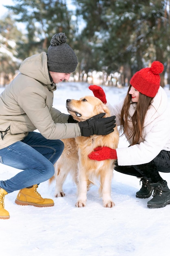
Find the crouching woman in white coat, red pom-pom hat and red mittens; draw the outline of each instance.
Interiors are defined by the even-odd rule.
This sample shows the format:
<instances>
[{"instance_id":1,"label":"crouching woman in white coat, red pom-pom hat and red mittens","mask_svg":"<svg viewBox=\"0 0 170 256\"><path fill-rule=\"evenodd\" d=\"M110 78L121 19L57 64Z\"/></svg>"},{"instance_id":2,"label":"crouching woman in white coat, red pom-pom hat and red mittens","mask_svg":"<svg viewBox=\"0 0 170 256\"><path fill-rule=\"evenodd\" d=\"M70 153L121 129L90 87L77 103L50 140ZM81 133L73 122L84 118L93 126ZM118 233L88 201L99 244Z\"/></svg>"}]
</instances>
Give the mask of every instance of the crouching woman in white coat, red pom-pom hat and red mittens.
<instances>
[{"instance_id":1,"label":"crouching woman in white coat, red pom-pom hat and red mittens","mask_svg":"<svg viewBox=\"0 0 170 256\"><path fill-rule=\"evenodd\" d=\"M137 198L153 198L149 208L170 204L170 189L160 172L170 172L170 111L167 95L160 87L163 64L154 61L151 67L136 72L130 80L129 90L122 103L110 106L116 115L120 132L126 136L128 148L95 148L90 159L117 159L115 170L141 178L142 188ZM107 103L102 88L89 86L94 95ZM108 104L109 105L109 104Z\"/></svg>"}]
</instances>

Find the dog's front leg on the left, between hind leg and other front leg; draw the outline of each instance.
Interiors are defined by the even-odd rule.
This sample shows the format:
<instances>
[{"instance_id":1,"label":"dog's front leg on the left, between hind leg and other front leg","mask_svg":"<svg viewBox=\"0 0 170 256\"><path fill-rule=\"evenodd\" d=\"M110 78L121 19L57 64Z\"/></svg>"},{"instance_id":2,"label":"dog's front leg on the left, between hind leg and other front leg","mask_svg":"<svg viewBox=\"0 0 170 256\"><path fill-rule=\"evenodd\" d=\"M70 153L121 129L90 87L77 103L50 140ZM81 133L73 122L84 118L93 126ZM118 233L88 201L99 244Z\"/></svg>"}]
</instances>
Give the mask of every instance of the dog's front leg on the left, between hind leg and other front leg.
<instances>
[{"instance_id":1,"label":"dog's front leg on the left, between hind leg and other front leg","mask_svg":"<svg viewBox=\"0 0 170 256\"><path fill-rule=\"evenodd\" d=\"M83 167L78 168L78 198L75 204L76 207L85 207L87 200L87 177Z\"/></svg>"}]
</instances>

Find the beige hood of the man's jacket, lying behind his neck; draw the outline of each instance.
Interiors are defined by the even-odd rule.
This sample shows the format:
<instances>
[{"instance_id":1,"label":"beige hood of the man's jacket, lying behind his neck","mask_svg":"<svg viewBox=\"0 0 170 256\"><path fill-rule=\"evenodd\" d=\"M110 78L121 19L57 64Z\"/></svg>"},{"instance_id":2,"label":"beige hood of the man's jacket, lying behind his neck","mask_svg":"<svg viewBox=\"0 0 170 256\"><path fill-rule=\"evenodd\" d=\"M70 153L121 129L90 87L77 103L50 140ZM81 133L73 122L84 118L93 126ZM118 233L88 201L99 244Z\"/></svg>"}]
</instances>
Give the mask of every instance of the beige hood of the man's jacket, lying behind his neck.
<instances>
[{"instance_id":1,"label":"beige hood of the man's jacket, lying behind his neck","mask_svg":"<svg viewBox=\"0 0 170 256\"><path fill-rule=\"evenodd\" d=\"M20 65L19 71L46 85L49 90L56 89L55 84L50 81L46 52L26 58Z\"/></svg>"}]
</instances>

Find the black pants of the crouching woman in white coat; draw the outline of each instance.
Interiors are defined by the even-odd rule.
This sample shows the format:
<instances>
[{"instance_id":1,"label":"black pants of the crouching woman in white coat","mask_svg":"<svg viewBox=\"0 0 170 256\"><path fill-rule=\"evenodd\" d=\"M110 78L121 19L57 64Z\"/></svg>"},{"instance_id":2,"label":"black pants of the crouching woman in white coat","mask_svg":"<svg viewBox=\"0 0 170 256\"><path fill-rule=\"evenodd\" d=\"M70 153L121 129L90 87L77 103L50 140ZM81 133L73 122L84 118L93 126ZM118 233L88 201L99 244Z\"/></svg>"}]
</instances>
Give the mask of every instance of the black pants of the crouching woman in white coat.
<instances>
[{"instance_id":1,"label":"black pants of the crouching woman in white coat","mask_svg":"<svg viewBox=\"0 0 170 256\"><path fill-rule=\"evenodd\" d=\"M159 155L147 164L119 166L116 162L115 165L114 169L120 173L144 177L150 183L161 182L163 179L159 172L170 173L170 151L161 150Z\"/></svg>"}]
</instances>

